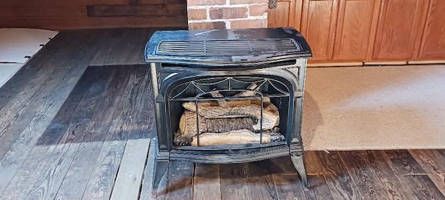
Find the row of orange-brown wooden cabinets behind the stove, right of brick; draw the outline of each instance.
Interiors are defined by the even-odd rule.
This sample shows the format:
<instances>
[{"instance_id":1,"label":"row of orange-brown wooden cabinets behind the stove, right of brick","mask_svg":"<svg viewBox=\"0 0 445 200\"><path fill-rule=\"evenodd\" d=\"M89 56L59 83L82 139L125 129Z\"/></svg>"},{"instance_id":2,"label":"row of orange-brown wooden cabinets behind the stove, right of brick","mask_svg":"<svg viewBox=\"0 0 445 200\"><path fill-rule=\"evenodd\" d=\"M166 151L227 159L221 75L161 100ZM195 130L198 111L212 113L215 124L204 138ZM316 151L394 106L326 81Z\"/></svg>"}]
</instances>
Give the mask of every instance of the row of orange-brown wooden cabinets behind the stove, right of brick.
<instances>
[{"instance_id":1,"label":"row of orange-brown wooden cabinets behind the stove, right of brick","mask_svg":"<svg viewBox=\"0 0 445 200\"><path fill-rule=\"evenodd\" d=\"M268 23L297 28L309 62L445 60L445 0L281 0Z\"/></svg>"}]
</instances>

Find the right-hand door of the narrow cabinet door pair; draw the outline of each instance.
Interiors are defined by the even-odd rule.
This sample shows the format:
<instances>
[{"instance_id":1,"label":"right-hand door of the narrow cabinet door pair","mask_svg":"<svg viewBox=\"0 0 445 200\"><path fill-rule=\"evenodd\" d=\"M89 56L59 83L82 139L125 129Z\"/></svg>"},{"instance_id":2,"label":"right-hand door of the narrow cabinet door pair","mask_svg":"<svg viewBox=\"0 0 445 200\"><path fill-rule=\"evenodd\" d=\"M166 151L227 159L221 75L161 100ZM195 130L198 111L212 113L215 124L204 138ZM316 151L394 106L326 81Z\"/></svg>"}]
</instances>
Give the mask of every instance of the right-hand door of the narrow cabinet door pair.
<instances>
[{"instance_id":1,"label":"right-hand door of the narrow cabinet door pair","mask_svg":"<svg viewBox=\"0 0 445 200\"><path fill-rule=\"evenodd\" d=\"M364 61L368 50L374 0L340 1L332 60Z\"/></svg>"}]
</instances>

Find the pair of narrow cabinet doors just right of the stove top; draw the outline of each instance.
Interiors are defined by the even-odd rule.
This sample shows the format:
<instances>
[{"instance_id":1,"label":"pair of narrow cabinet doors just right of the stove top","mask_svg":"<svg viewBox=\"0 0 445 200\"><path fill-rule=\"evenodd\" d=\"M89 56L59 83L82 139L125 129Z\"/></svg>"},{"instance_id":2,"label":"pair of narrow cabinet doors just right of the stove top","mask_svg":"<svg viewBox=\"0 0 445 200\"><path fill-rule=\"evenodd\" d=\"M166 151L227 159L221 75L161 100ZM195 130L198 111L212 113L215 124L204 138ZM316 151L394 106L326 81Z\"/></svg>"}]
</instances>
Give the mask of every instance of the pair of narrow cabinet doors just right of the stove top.
<instances>
[{"instance_id":1,"label":"pair of narrow cabinet doors just right of the stove top","mask_svg":"<svg viewBox=\"0 0 445 200\"><path fill-rule=\"evenodd\" d=\"M311 45L312 61L366 59L374 0L305 0L300 31Z\"/></svg>"}]
</instances>

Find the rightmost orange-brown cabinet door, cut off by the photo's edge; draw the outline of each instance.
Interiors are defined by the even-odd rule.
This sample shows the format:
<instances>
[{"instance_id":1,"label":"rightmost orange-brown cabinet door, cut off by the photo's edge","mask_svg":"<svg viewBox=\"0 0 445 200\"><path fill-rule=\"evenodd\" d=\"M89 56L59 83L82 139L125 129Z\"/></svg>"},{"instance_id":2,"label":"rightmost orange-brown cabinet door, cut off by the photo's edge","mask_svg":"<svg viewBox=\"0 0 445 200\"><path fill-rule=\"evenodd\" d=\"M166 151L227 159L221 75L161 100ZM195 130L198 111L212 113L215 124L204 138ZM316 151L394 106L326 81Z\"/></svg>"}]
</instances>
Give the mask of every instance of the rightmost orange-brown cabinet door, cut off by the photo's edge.
<instances>
[{"instance_id":1,"label":"rightmost orange-brown cabinet door, cut off by the photo's edge","mask_svg":"<svg viewBox=\"0 0 445 200\"><path fill-rule=\"evenodd\" d=\"M445 60L445 1L431 0L426 15L425 29L419 58Z\"/></svg>"}]
</instances>

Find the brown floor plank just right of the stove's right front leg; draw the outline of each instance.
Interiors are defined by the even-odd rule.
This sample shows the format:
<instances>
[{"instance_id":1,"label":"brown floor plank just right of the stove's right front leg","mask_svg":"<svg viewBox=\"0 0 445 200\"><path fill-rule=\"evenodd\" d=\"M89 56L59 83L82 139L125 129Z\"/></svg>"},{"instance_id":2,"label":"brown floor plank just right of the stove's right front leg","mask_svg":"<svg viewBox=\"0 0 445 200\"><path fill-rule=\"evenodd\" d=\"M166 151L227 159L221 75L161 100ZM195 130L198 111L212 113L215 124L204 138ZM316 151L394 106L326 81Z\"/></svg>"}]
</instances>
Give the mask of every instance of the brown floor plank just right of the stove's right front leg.
<instances>
[{"instance_id":1,"label":"brown floor plank just right of the stove's right front leg","mask_svg":"<svg viewBox=\"0 0 445 200\"><path fill-rule=\"evenodd\" d=\"M334 199L315 151L305 151L305 164L309 182L309 190L304 190L306 199Z\"/></svg>"}]
</instances>

